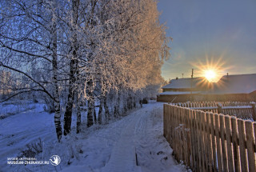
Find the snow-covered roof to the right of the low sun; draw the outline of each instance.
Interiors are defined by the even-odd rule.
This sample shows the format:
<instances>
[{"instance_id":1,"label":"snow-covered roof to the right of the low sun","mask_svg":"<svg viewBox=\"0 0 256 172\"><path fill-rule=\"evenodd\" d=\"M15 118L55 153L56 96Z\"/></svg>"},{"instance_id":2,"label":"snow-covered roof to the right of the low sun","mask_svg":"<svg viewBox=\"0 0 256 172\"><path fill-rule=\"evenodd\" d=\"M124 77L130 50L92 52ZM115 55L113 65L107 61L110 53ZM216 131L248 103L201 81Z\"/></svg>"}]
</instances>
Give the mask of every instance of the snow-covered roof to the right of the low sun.
<instances>
[{"instance_id":1,"label":"snow-covered roof to the right of the low sun","mask_svg":"<svg viewBox=\"0 0 256 172\"><path fill-rule=\"evenodd\" d=\"M206 94L250 94L256 90L256 74L225 75Z\"/></svg>"}]
</instances>

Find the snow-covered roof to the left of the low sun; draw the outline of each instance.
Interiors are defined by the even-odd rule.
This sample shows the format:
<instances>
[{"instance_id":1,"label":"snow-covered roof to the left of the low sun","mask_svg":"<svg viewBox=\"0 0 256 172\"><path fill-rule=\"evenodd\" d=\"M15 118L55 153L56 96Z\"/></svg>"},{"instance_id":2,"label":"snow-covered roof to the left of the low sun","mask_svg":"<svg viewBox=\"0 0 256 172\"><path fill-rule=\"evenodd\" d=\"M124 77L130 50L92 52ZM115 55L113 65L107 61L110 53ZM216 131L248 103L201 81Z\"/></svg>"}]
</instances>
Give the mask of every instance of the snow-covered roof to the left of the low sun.
<instances>
[{"instance_id":1,"label":"snow-covered roof to the left of the low sun","mask_svg":"<svg viewBox=\"0 0 256 172\"><path fill-rule=\"evenodd\" d=\"M186 89L191 88L191 80L192 80L192 88L200 87L205 82L208 82L206 78L198 77L198 78L178 78L170 80L170 84L166 86L162 86L162 89Z\"/></svg>"}]
</instances>

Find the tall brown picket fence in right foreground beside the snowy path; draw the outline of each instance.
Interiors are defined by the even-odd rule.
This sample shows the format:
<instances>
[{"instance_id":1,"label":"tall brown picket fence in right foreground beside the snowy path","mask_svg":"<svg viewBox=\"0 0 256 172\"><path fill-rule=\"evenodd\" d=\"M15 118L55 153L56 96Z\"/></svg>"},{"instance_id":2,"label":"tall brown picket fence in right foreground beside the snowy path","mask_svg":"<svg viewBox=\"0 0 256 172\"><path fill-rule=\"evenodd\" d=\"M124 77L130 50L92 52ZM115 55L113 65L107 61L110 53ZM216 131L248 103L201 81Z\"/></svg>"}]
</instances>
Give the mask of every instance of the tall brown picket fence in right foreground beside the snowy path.
<instances>
[{"instance_id":1,"label":"tall brown picket fence in right foreground beside the snowy path","mask_svg":"<svg viewBox=\"0 0 256 172\"><path fill-rule=\"evenodd\" d=\"M164 136L194 171L256 171L256 122L164 105Z\"/></svg>"}]
</instances>

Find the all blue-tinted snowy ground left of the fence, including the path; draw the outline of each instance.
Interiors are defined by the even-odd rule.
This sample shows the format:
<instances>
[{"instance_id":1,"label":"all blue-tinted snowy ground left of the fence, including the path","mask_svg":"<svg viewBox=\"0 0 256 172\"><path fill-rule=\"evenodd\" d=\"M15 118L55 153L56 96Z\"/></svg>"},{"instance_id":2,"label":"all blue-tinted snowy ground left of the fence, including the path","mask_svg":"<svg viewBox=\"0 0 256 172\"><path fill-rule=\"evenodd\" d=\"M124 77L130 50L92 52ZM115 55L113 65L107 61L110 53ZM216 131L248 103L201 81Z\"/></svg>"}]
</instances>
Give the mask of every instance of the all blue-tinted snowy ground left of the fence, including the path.
<instances>
[{"instance_id":1,"label":"all blue-tinted snowy ground left of the fence, including the path","mask_svg":"<svg viewBox=\"0 0 256 172\"><path fill-rule=\"evenodd\" d=\"M150 102L107 125L84 127L61 143L56 142L54 114L46 113L42 104L1 119L0 129L0 171L186 171L162 136L161 102ZM58 155L58 166L7 164L7 158L26 153L26 145L36 145L39 138L42 152L35 158L49 161Z\"/></svg>"}]
</instances>

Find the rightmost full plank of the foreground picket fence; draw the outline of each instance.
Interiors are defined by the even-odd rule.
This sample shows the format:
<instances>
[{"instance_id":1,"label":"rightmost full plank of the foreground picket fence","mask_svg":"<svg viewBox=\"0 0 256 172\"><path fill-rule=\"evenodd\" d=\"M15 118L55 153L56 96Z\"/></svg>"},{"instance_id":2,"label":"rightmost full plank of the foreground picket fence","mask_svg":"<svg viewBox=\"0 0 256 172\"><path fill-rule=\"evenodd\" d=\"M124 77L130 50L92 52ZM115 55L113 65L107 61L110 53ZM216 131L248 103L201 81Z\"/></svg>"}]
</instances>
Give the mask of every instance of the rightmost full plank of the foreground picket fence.
<instances>
[{"instance_id":1,"label":"rightmost full plank of the foreground picket fence","mask_svg":"<svg viewBox=\"0 0 256 172\"><path fill-rule=\"evenodd\" d=\"M246 148L248 154L249 171L256 171L255 169L255 153L254 153L254 131L252 122L246 121Z\"/></svg>"}]
</instances>

